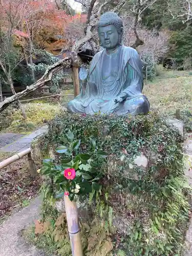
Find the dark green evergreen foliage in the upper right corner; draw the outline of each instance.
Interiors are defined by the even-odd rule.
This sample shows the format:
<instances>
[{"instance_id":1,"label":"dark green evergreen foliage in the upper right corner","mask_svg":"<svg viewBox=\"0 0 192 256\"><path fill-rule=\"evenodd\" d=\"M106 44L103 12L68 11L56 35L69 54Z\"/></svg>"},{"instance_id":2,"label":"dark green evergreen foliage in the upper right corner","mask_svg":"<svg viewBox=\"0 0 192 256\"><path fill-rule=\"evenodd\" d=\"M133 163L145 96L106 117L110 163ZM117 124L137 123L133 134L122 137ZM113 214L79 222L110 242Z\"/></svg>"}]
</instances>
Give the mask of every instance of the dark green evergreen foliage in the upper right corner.
<instances>
[{"instance_id":1,"label":"dark green evergreen foliage in the upper right corner","mask_svg":"<svg viewBox=\"0 0 192 256\"><path fill-rule=\"evenodd\" d=\"M180 0L168 1L170 8L179 6ZM179 13L180 14L180 13ZM167 1L159 0L151 8L146 8L142 16L142 24L149 29L168 29L170 31L170 51L166 58L173 58L177 66L183 69L186 57L190 57L191 52L191 25L182 23L183 17L174 19L168 10ZM190 69L190 67L187 67Z\"/></svg>"}]
</instances>

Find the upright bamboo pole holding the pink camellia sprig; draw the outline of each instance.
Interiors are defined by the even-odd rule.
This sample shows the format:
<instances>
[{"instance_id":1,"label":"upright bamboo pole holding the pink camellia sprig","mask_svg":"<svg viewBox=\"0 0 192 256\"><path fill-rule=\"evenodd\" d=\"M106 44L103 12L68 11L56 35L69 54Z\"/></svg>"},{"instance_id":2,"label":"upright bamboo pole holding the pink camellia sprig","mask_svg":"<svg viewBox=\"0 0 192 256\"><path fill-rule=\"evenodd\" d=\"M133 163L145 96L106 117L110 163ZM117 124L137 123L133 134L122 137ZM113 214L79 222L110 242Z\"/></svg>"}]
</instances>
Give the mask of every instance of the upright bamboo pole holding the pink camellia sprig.
<instances>
[{"instance_id":1,"label":"upright bamboo pole holding the pink camellia sprig","mask_svg":"<svg viewBox=\"0 0 192 256\"><path fill-rule=\"evenodd\" d=\"M70 201L67 191L65 192L64 200L72 255L83 256L76 202Z\"/></svg>"}]
</instances>

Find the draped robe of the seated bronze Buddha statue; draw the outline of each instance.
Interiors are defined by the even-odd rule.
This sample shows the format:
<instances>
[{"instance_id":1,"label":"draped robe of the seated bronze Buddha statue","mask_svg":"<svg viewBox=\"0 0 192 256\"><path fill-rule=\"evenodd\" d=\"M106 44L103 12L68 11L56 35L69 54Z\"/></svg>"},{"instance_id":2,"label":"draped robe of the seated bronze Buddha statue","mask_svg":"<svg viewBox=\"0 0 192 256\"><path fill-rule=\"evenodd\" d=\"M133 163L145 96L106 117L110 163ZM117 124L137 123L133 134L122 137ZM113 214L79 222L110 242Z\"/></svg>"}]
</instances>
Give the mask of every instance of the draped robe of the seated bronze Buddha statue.
<instances>
[{"instance_id":1,"label":"draped robe of the seated bronze Buddha statue","mask_svg":"<svg viewBox=\"0 0 192 256\"><path fill-rule=\"evenodd\" d=\"M97 53L91 63L89 81L86 91L68 103L68 110L73 113L94 114L138 114L147 113L150 103L142 94L142 63L137 51L130 47L120 46L118 67L111 81L103 79L102 69L106 50ZM114 99L126 93L126 99L119 103Z\"/></svg>"}]
</instances>

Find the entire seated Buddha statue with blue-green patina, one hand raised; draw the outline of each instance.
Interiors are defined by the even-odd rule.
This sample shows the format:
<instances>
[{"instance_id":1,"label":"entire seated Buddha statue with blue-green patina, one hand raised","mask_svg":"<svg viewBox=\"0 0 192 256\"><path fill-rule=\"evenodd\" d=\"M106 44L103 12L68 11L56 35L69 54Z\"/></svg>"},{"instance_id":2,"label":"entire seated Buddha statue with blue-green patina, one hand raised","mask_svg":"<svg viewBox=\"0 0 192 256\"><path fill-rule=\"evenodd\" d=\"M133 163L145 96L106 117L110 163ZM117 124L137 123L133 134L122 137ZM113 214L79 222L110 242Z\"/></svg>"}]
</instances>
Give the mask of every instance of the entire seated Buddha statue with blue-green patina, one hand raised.
<instances>
[{"instance_id":1,"label":"entire seated Buddha statue with blue-green patina, one hand raised","mask_svg":"<svg viewBox=\"0 0 192 256\"><path fill-rule=\"evenodd\" d=\"M142 94L142 63L138 52L122 45L123 23L114 12L100 18L98 34L104 50L88 71L81 67L81 93L68 103L72 113L117 115L148 113L150 103Z\"/></svg>"}]
</instances>

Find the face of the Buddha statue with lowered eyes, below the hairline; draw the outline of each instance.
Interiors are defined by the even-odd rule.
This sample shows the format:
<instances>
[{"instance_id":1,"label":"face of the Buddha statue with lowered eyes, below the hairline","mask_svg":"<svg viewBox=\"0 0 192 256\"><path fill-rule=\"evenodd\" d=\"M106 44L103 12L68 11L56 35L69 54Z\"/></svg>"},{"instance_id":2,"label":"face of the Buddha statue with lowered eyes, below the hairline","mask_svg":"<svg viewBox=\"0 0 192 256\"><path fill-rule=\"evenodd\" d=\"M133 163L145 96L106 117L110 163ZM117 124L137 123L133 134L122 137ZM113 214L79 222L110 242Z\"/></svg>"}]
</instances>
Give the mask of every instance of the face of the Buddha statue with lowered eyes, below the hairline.
<instances>
[{"instance_id":1,"label":"face of the Buddha statue with lowered eyes, below the hairline","mask_svg":"<svg viewBox=\"0 0 192 256\"><path fill-rule=\"evenodd\" d=\"M101 45L106 50L113 50L120 44L121 35L117 32L115 25L98 28Z\"/></svg>"}]
</instances>

